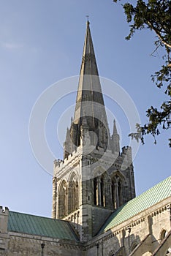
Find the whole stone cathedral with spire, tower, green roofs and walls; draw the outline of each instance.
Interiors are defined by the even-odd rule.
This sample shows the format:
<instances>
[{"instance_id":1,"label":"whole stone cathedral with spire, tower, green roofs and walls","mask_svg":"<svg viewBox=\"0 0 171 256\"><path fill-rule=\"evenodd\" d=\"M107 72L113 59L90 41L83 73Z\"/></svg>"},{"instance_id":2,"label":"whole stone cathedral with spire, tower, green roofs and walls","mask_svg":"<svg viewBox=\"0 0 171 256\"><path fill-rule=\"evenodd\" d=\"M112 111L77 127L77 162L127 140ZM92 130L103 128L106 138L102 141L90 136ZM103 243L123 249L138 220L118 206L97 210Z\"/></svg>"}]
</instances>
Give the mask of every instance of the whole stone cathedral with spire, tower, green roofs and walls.
<instances>
[{"instance_id":1,"label":"whole stone cathedral with spire, tower, green roofs and walls","mask_svg":"<svg viewBox=\"0 0 171 256\"><path fill-rule=\"evenodd\" d=\"M171 255L168 177L136 197L132 148L110 133L87 21L75 113L54 161L52 218L0 207L3 256Z\"/></svg>"}]
</instances>

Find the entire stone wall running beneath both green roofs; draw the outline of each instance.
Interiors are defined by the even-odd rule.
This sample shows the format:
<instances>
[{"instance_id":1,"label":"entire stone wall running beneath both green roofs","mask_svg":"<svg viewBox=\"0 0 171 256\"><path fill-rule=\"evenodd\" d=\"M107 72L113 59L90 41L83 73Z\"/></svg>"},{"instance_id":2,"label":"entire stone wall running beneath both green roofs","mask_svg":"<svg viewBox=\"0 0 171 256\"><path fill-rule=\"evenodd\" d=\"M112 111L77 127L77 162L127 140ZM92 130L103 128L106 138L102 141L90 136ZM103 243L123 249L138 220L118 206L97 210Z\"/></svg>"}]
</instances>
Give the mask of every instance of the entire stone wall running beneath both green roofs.
<instances>
[{"instance_id":1,"label":"entire stone wall running beneath both green roofs","mask_svg":"<svg viewBox=\"0 0 171 256\"><path fill-rule=\"evenodd\" d=\"M7 232L6 215L0 256L40 256L42 242L44 256L147 256L161 246L163 231L170 232L170 197L85 243Z\"/></svg>"}]
</instances>

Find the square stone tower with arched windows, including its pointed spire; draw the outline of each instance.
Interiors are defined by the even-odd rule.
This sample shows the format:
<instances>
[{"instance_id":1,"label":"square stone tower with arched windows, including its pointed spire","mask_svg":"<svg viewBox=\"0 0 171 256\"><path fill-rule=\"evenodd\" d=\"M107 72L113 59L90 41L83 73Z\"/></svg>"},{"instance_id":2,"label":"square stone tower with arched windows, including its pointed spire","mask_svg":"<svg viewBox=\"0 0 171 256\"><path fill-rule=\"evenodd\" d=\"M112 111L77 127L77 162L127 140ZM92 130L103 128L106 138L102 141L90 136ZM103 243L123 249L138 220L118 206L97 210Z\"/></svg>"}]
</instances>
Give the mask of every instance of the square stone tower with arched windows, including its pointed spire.
<instances>
[{"instance_id":1,"label":"square stone tower with arched windows, including its pointed spire","mask_svg":"<svg viewBox=\"0 0 171 256\"><path fill-rule=\"evenodd\" d=\"M69 220L80 241L88 241L133 197L132 149L120 151L115 120L110 135L87 22L74 118L66 130L64 159L54 161L52 217Z\"/></svg>"}]
</instances>

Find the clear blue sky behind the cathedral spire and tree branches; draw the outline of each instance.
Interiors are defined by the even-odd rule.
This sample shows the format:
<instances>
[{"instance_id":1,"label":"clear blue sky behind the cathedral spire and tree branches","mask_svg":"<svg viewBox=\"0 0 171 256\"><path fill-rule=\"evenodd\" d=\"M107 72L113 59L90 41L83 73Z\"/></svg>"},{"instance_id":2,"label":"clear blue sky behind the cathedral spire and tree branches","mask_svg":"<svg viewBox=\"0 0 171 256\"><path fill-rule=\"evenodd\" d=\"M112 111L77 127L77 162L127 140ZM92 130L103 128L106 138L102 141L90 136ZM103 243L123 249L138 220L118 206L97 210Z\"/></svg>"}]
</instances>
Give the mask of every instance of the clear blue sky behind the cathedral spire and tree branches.
<instances>
[{"instance_id":1,"label":"clear blue sky behind the cathedral spire and tree branches","mask_svg":"<svg viewBox=\"0 0 171 256\"><path fill-rule=\"evenodd\" d=\"M142 123L147 121L145 110L158 107L164 99L162 89L151 82L151 74L162 63L161 50L151 56L155 35L140 31L126 41L129 26L119 4L112 0L0 1L0 205L12 211L51 215L52 176L42 170L31 151L29 117L42 91L58 80L79 75L86 15L90 16L99 75L129 93ZM121 146L125 146L129 129L122 122L121 110L107 97L104 100L119 121ZM68 108L66 102L74 104L75 94L54 106L47 118L47 141L57 158L62 157L62 148L56 127L60 111ZM168 135L162 132L156 146L148 136L140 146L134 159L137 195L170 175Z\"/></svg>"}]
</instances>

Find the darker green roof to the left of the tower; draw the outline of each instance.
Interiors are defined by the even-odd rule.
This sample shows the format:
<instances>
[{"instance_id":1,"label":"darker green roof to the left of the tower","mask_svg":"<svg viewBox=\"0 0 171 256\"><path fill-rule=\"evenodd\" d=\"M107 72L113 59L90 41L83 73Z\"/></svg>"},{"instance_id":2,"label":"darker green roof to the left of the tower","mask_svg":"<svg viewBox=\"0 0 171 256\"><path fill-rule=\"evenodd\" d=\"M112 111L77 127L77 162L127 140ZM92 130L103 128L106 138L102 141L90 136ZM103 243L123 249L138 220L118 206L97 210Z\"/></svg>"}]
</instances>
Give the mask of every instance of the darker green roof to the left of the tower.
<instances>
[{"instance_id":1,"label":"darker green roof to the left of the tower","mask_svg":"<svg viewBox=\"0 0 171 256\"><path fill-rule=\"evenodd\" d=\"M78 240L69 222L15 211L9 211L8 230L37 236Z\"/></svg>"}]
</instances>

